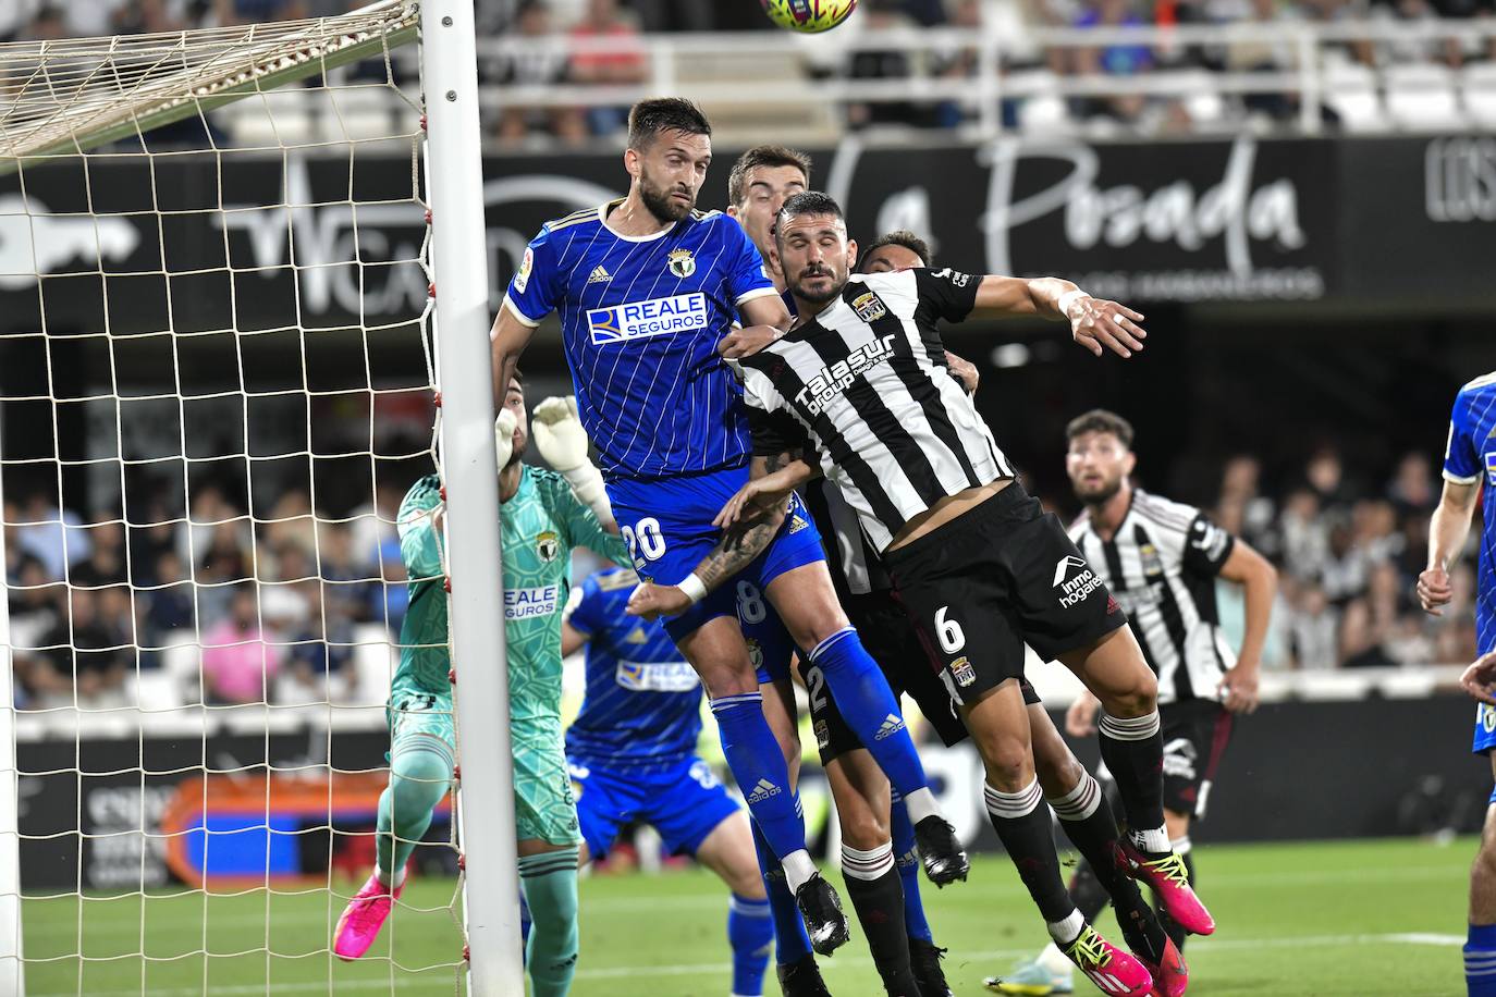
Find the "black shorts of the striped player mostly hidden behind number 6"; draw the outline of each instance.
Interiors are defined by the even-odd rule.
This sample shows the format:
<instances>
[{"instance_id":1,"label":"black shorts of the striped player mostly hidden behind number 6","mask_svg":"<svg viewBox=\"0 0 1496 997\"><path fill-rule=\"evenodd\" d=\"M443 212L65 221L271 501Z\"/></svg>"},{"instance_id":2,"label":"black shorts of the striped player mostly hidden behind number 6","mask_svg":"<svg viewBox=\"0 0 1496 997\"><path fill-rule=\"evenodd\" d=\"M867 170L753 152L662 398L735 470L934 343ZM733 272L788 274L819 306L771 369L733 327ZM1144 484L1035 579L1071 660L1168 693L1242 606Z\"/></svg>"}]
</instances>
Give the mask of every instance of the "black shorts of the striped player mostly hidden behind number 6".
<instances>
[{"instance_id":1,"label":"black shorts of the striped player mostly hidden behind number 6","mask_svg":"<svg viewBox=\"0 0 1496 997\"><path fill-rule=\"evenodd\" d=\"M893 695L908 694L947 747L966 740L966 725L956 712L956 701L939 679L942 664L939 658L931 655L893 593L869 592L845 596L842 608L857 628L863 647L883 670ZM862 740L847 726L841 710L836 709L820 670L805 658L800 658L800 679L811 698L811 728L815 731L821 764L826 765L838 755L862 747ZM1026 679L1022 685L1025 703L1043 703Z\"/></svg>"}]
</instances>

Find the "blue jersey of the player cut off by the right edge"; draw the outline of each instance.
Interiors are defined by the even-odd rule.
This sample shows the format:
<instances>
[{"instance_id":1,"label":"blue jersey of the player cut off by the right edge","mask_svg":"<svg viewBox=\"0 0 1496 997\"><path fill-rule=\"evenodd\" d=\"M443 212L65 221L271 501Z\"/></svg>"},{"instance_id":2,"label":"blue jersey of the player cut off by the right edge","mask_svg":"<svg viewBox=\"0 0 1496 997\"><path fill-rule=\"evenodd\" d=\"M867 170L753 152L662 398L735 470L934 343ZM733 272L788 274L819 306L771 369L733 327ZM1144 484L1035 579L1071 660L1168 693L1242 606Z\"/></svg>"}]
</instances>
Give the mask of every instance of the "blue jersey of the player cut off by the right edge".
<instances>
[{"instance_id":1,"label":"blue jersey of the player cut off by the right edge","mask_svg":"<svg viewBox=\"0 0 1496 997\"><path fill-rule=\"evenodd\" d=\"M1480 574L1475 586L1477 650L1496 647L1496 371L1454 396L1444 477L1457 484L1484 483Z\"/></svg>"}]
</instances>

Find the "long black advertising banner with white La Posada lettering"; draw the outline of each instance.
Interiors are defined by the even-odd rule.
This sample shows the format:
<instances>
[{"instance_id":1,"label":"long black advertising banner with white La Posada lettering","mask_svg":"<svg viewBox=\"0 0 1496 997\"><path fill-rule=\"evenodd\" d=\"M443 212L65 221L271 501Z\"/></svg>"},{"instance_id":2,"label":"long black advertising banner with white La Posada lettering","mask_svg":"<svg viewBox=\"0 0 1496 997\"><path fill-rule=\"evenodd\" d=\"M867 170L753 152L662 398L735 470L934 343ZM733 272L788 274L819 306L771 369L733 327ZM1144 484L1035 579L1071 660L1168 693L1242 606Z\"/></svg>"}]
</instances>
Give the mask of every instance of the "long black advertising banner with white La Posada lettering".
<instances>
[{"instance_id":1,"label":"long black advertising banner with white La Posada lettering","mask_svg":"<svg viewBox=\"0 0 1496 997\"><path fill-rule=\"evenodd\" d=\"M1138 303L1492 299L1490 138L811 152L854 236L908 227L962 269L1058 274ZM702 206L723 206L735 154L718 151ZM428 285L419 176L410 155L290 154L284 169L97 157L3 178L0 332L39 329L43 305L49 330L115 335L410 321ZM619 154L491 157L485 178L494 306L542 223L625 187ZM289 206L251 206L266 202Z\"/></svg>"}]
</instances>

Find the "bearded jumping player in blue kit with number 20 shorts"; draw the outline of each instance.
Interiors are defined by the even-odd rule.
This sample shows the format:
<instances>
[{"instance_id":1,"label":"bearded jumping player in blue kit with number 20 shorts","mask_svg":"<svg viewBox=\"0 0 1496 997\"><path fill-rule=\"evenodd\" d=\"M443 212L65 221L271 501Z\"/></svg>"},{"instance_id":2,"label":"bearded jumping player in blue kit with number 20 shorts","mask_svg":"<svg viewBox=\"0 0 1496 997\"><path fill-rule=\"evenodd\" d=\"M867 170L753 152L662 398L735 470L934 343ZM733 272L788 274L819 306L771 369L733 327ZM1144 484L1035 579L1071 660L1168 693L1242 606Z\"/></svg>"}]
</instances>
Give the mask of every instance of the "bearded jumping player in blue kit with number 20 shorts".
<instances>
[{"instance_id":1,"label":"bearded jumping player in blue kit with number 20 shorts","mask_svg":"<svg viewBox=\"0 0 1496 997\"><path fill-rule=\"evenodd\" d=\"M742 387L718 356L732 324L778 333L790 315L752 242L732 218L696 212L711 164L711 124L687 100L630 111L628 196L548 223L531 241L492 332L495 384L536 326L560 311L582 425L597 444L612 508L640 577L684 586L691 605L666 628L712 701L723 753L779 858L812 946L848 937L836 891L805 849L787 753L763 710L757 670L721 578L691 572L718 540L721 504L748 480ZM724 339L727 342L724 342ZM963 879L965 852L939 815L898 703L836 604L814 528L788 508L751 529L770 537L744 580L778 608L823 668L848 720L904 795L925 871Z\"/></svg>"}]
</instances>

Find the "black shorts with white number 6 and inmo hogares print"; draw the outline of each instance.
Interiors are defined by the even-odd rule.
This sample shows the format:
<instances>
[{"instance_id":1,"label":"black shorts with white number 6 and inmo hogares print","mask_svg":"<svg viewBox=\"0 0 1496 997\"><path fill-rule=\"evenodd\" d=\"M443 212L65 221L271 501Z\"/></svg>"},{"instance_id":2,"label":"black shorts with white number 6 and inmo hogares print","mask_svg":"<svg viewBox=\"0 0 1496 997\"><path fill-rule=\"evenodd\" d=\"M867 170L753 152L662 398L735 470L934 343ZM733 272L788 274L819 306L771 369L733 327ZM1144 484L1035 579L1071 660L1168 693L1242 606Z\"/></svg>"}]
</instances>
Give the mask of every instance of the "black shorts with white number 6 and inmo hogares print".
<instances>
[{"instance_id":1,"label":"black shorts with white number 6 and inmo hogares print","mask_svg":"<svg viewBox=\"0 0 1496 997\"><path fill-rule=\"evenodd\" d=\"M1126 625L1059 519L1017 481L883 556L957 703L1023 676L1023 644L1053 661Z\"/></svg>"}]
</instances>

